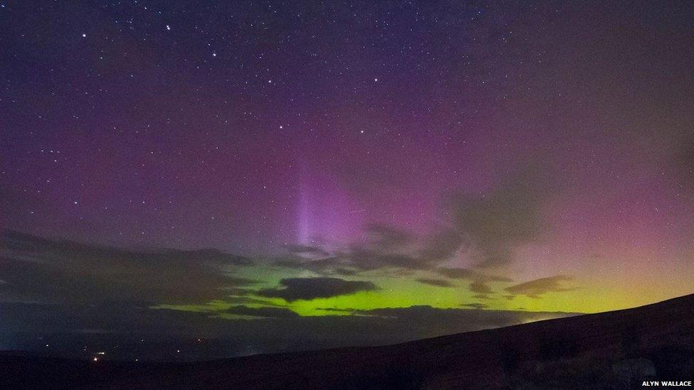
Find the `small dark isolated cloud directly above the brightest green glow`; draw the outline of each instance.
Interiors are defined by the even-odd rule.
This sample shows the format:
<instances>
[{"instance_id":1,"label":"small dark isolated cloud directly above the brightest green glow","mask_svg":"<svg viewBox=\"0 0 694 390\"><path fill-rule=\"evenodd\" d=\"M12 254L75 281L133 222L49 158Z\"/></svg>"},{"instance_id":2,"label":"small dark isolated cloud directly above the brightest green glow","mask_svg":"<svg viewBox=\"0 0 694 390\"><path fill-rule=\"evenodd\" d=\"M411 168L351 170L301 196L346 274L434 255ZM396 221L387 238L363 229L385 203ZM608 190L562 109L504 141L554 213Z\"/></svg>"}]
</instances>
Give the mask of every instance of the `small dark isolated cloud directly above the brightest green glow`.
<instances>
[{"instance_id":1,"label":"small dark isolated cloud directly above the brightest green glow","mask_svg":"<svg viewBox=\"0 0 694 390\"><path fill-rule=\"evenodd\" d=\"M346 281L341 278L285 278L279 281L281 288L263 288L256 292L258 296L293 300L311 300L346 296L360 291L377 290L369 281Z\"/></svg>"}]
</instances>

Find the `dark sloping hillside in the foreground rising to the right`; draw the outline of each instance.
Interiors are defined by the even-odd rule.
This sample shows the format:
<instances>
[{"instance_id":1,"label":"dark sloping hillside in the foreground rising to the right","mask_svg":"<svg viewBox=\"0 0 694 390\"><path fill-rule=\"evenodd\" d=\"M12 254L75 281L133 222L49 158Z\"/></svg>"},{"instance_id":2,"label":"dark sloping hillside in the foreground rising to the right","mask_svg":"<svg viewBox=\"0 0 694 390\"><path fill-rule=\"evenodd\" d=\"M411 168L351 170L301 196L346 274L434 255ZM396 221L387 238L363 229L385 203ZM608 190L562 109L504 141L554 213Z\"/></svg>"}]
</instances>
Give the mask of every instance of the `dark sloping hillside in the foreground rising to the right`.
<instances>
[{"instance_id":1,"label":"dark sloping hillside in the foreground rising to the right","mask_svg":"<svg viewBox=\"0 0 694 390\"><path fill-rule=\"evenodd\" d=\"M634 389L694 380L694 295L385 347L192 364L0 355L0 388Z\"/></svg>"}]
</instances>

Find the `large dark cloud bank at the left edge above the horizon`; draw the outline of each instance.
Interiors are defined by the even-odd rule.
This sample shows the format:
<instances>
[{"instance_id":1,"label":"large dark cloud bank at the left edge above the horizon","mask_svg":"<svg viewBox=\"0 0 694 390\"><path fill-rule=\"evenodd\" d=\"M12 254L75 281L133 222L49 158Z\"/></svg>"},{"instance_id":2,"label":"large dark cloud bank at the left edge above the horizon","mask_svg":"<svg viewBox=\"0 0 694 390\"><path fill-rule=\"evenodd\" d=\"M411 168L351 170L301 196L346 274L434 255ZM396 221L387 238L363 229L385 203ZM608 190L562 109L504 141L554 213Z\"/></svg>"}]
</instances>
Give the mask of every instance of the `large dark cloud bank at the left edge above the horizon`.
<instances>
[{"instance_id":1,"label":"large dark cloud bank at the left edge above the horizon","mask_svg":"<svg viewBox=\"0 0 694 390\"><path fill-rule=\"evenodd\" d=\"M41 302L197 303L255 281L229 275L242 256L213 249L132 251L5 230L0 298Z\"/></svg>"}]
</instances>

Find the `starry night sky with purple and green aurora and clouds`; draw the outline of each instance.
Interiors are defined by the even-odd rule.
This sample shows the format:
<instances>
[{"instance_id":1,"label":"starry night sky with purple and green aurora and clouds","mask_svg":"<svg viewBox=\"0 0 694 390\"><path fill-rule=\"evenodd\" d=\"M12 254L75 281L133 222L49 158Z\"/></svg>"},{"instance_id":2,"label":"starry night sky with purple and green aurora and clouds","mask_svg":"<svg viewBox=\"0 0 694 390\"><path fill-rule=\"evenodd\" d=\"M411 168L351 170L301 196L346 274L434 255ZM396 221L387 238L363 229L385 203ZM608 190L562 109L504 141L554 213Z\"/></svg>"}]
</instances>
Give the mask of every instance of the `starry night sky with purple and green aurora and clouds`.
<instances>
[{"instance_id":1,"label":"starry night sky with purple and green aurora and clouds","mask_svg":"<svg viewBox=\"0 0 694 390\"><path fill-rule=\"evenodd\" d=\"M694 292L694 3L602 3L0 0L0 350Z\"/></svg>"}]
</instances>

